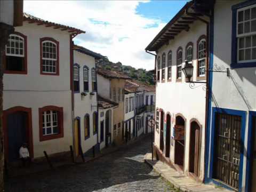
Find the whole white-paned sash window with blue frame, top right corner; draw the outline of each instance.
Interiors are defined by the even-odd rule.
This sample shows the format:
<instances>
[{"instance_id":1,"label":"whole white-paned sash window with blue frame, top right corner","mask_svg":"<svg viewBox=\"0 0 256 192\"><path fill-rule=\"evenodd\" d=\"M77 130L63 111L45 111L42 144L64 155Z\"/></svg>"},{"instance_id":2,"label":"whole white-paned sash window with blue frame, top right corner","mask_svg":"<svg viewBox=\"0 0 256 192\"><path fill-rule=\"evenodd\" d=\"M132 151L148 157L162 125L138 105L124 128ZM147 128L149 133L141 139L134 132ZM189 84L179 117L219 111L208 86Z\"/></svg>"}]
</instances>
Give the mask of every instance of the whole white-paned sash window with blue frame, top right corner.
<instances>
[{"instance_id":1,"label":"whole white-paned sash window with blue frame, top right corner","mask_svg":"<svg viewBox=\"0 0 256 192\"><path fill-rule=\"evenodd\" d=\"M256 0L232 6L231 68L256 67L255 13Z\"/></svg>"}]
</instances>

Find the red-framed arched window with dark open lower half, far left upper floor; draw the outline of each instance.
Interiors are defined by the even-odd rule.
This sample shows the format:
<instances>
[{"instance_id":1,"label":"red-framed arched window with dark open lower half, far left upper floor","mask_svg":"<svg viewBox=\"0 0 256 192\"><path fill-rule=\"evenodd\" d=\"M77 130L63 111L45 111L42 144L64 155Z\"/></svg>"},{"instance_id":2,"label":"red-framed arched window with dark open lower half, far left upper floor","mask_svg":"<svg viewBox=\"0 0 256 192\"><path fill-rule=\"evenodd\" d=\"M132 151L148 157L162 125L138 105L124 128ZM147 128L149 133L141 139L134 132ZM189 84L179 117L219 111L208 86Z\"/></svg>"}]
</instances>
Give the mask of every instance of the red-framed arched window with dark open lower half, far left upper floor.
<instances>
[{"instance_id":1,"label":"red-framed arched window with dark open lower half, far left upper floor","mask_svg":"<svg viewBox=\"0 0 256 192\"><path fill-rule=\"evenodd\" d=\"M27 74L27 36L15 32L5 46L4 73Z\"/></svg>"}]
</instances>

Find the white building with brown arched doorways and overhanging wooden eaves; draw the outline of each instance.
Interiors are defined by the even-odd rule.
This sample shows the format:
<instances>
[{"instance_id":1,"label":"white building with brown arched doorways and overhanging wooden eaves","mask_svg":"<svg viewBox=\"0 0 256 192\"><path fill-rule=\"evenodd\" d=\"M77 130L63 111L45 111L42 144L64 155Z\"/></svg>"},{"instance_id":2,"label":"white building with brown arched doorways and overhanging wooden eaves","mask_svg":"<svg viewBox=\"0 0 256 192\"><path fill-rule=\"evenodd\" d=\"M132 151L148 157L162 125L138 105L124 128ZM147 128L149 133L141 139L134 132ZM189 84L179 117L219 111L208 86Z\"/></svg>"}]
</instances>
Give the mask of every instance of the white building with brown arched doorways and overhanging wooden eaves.
<instances>
[{"instance_id":1,"label":"white building with brown arched doorways and overhanging wooden eaves","mask_svg":"<svg viewBox=\"0 0 256 192\"><path fill-rule=\"evenodd\" d=\"M186 11L194 12L192 5L193 2L188 2L183 6L146 50L157 53L154 141L157 156L186 175L203 181L207 31L205 23L186 14ZM182 73L185 60L194 66L190 80L202 82L195 87L186 83Z\"/></svg>"}]
</instances>

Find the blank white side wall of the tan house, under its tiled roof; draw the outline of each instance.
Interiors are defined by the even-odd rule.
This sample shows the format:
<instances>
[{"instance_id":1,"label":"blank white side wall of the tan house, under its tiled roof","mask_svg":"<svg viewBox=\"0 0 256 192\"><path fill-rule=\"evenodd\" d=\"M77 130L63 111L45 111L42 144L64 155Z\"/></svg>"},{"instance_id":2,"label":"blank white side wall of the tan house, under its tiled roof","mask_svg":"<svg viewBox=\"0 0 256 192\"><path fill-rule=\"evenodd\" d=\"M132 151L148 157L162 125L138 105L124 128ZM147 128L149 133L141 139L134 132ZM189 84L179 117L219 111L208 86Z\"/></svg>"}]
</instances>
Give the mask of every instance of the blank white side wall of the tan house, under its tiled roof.
<instances>
[{"instance_id":1,"label":"blank white side wall of the tan house, under its tiled roof","mask_svg":"<svg viewBox=\"0 0 256 192\"><path fill-rule=\"evenodd\" d=\"M97 74L98 93L103 98L110 99L110 80Z\"/></svg>"}]
</instances>

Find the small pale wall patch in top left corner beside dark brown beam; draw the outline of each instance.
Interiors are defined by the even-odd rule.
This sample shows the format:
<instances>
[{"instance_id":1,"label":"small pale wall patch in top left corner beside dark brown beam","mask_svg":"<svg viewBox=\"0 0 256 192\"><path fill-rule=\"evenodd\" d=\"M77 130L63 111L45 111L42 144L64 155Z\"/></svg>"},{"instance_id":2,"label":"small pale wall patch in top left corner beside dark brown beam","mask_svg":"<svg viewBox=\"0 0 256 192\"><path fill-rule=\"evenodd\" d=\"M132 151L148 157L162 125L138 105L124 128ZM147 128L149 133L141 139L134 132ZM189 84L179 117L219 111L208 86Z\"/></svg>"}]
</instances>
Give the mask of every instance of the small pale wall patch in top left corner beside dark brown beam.
<instances>
[{"instance_id":1,"label":"small pale wall patch in top left corner beside dark brown beam","mask_svg":"<svg viewBox=\"0 0 256 192\"><path fill-rule=\"evenodd\" d=\"M0 1L0 22L13 25L13 0Z\"/></svg>"}]
</instances>

